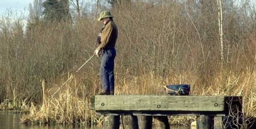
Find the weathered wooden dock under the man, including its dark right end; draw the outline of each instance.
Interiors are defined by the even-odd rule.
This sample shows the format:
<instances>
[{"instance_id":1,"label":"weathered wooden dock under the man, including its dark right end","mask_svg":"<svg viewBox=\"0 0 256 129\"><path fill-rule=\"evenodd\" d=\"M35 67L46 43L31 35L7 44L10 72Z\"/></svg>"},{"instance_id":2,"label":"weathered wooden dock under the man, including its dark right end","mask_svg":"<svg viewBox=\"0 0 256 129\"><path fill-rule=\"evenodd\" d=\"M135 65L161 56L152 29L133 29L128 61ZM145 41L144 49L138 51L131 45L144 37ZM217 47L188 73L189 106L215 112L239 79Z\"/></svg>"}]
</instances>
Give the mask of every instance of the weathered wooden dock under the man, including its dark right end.
<instances>
[{"instance_id":1,"label":"weathered wooden dock under the man, including its dark right end","mask_svg":"<svg viewBox=\"0 0 256 129\"><path fill-rule=\"evenodd\" d=\"M98 115L114 116L196 115L197 129L213 129L213 118L222 117L225 123L223 126L229 129L237 126L233 123L241 123L242 97L93 95L90 98L90 109L96 110Z\"/></svg>"}]
</instances>

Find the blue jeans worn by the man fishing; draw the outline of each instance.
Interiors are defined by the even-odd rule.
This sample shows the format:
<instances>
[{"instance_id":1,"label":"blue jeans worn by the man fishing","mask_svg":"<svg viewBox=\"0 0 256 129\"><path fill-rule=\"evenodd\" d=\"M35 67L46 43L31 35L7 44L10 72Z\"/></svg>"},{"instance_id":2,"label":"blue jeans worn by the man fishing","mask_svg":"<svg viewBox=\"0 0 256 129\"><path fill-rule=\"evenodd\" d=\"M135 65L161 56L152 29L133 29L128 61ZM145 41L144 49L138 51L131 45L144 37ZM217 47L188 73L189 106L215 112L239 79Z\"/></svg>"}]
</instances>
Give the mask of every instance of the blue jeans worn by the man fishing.
<instances>
[{"instance_id":1,"label":"blue jeans worn by the man fishing","mask_svg":"<svg viewBox=\"0 0 256 129\"><path fill-rule=\"evenodd\" d=\"M102 90L114 91L114 59L116 57L115 48L105 48L102 50L102 62L99 74L102 82Z\"/></svg>"}]
</instances>

